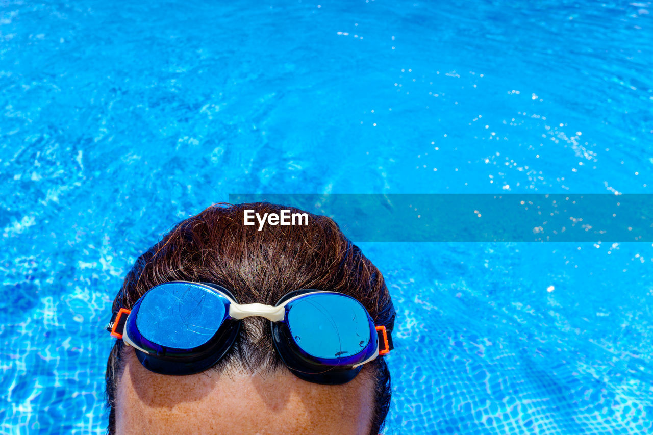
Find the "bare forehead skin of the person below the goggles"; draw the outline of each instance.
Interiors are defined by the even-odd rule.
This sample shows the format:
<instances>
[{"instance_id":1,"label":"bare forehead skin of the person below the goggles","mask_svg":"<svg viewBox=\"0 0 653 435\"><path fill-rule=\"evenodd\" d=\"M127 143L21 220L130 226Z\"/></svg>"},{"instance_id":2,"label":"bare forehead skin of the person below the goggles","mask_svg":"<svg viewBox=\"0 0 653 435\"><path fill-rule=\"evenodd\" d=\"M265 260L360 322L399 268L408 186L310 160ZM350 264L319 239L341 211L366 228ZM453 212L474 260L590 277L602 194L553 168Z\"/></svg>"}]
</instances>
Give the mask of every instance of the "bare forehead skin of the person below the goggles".
<instances>
[{"instance_id":1,"label":"bare forehead skin of the person below the goggles","mask_svg":"<svg viewBox=\"0 0 653 435\"><path fill-rule=\"evenodd\" d=\"M343 385L279 374L166 376L144 368L131 347L116 395L116 434L369 435L372 370Z\"/></svg>"}]
</instances>

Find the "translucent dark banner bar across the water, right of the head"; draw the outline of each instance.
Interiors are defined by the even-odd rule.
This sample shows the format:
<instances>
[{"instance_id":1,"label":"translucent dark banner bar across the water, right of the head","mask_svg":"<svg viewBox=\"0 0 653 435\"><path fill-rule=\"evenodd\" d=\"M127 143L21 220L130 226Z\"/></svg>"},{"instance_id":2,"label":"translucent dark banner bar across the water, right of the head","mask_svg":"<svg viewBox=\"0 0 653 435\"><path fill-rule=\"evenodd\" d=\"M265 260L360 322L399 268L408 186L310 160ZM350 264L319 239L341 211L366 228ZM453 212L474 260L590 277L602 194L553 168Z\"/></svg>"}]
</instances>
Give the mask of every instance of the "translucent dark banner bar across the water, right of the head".
<instances>
[{"instance_id":1,"label":"translucent dark banner bar across the water, right of the head","mask_svg":"<svg viewBox=\"0 0 653 435\"><path fill-rule=\"evenodd\" d=\"M230 194L329 216L357 242L653 242L653 195Z\"/></svg>"}]
</instances>

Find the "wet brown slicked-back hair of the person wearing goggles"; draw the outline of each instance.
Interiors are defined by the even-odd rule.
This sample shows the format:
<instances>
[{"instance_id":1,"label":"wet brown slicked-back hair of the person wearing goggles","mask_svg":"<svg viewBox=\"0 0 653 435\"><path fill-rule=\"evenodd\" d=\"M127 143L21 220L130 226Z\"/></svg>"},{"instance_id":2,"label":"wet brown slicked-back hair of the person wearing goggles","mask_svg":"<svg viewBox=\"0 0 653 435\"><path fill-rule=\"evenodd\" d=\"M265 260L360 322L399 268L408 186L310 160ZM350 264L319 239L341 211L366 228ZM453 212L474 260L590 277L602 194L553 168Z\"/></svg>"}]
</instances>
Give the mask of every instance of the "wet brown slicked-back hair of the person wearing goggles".
<instances>
[{"instance_id":1,"label":"wet brown slicked-back hair of the person wearing goggles","mask_svg":"<svg viewBox=\"0 0 653 435\"><path fill-rule=\"evenodd\" d=\"M330 218L308 214L308 225L244 225L246 209L279 214L305 213L266 202L215 204L178 223L138 257L114 299L112 312L131 309L148 289L170 281L208 282L229 289L240 304L274 305L297 289L330 290L357 298L376 325L392 329L394 308L381 272ZM212 369L250 373L284 370L266 319L247 317L234 346ZM106 366L108 434L114 434L116 391L123 369L123 341L116 340ZM285 369L287 370L287 369ZM390 406L390 373L385 359L365 364L374 376L375 410L370 434L376 435ZM362 372L361 372L362 374ZM360 376L360 375L359 375Z\"/></svg>"}]
</instances>

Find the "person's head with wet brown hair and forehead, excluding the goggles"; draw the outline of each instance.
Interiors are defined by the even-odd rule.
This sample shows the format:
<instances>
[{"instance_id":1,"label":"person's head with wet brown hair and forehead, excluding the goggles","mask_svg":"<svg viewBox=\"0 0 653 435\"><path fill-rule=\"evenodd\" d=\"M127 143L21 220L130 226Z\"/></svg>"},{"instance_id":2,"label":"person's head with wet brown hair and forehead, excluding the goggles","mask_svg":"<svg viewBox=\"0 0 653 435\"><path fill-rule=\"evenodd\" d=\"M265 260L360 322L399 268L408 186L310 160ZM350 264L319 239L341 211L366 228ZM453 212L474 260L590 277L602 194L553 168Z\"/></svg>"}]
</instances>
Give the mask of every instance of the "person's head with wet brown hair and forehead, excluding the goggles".
<instances>
[{"instance_id":1,"label":"person's head with wet brown hair and forehead, excluding the goggles","mask_svg":"<svg viewBox=\"0 0 653 435\"><path fill-rule=\"evenodd\" d=\"M157 285L173 281L228 289L238 304L274 306L291 291L349 295L376 325L394 322L381 272L325 216L308 225L244 225L292 207L217 204L185 219L137 260L112 310L131 310ZM363 364L351 381L323 385L294 376L279 357L263 317L246 317L227 353L197 374L148 370L135 350L116 340L106 370L108 433L376 435L390 404L383 357Z\"/></svg>"}]
</instances>

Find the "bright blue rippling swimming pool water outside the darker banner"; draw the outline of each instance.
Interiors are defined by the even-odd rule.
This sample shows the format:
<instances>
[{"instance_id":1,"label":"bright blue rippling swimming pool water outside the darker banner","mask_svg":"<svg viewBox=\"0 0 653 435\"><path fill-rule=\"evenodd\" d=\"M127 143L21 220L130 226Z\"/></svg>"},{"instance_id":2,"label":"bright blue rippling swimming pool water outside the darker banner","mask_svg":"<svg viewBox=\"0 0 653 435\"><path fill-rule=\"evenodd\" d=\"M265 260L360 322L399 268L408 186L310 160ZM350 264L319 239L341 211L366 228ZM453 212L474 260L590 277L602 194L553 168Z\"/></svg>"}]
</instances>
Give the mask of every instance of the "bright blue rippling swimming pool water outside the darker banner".
<instances>
[{"instance_id":1,"label":"bright blue rippling swimming pool water outside the darker banner","mask_svg":"<svg viewBox=\"0 0 653 435\"><path fill-rule=\"evenodd\" d=\"M125 272L229 193L651 193L652 15L2 1L0 432L104 432ZM360 245L398 310L386 434L653 430L650 244Z\"/></svg>"}]
</instances>

